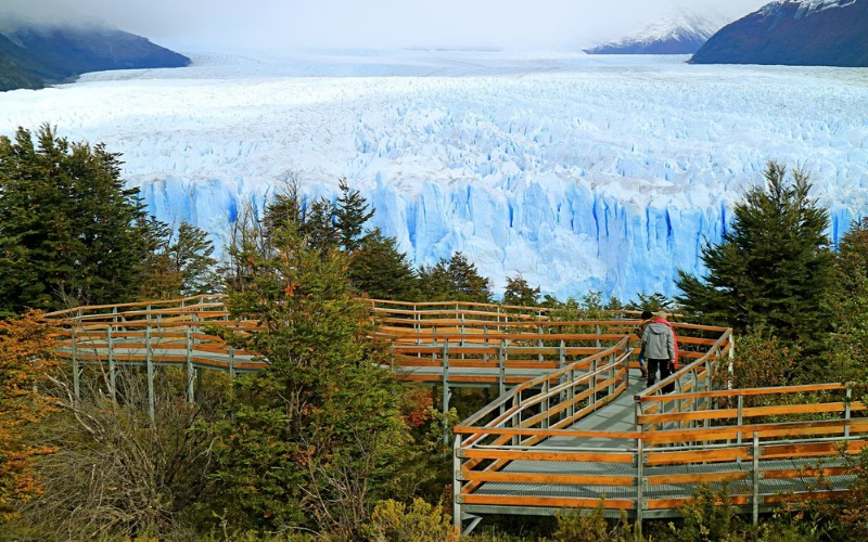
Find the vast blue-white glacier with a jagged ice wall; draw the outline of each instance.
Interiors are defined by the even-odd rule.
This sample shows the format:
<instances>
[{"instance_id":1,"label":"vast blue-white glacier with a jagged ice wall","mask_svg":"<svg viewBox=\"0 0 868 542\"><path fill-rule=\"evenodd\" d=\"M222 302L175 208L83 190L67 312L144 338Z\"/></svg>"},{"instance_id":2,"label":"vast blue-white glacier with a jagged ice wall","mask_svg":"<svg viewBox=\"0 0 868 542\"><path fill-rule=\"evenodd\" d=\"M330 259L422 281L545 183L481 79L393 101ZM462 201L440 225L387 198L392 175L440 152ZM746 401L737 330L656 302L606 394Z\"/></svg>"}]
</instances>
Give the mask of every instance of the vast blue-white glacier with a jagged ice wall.
<instances>
[{"instance_id":1,"label":"vast blue-white glacier with a jagged ice wall","mask_svg":"<svg viewBox=\"0 0 868 542\"><path fill-rule=\"evenodd\" d=\"M868 211L868 70L498 51L186 53L0 93L0 133L122 154L149 210L217 245L296 179L346 178L414 266L462 251L563 299L676 293L766 162L809 172L838 241Z\"/></svg>"}]
</instances>

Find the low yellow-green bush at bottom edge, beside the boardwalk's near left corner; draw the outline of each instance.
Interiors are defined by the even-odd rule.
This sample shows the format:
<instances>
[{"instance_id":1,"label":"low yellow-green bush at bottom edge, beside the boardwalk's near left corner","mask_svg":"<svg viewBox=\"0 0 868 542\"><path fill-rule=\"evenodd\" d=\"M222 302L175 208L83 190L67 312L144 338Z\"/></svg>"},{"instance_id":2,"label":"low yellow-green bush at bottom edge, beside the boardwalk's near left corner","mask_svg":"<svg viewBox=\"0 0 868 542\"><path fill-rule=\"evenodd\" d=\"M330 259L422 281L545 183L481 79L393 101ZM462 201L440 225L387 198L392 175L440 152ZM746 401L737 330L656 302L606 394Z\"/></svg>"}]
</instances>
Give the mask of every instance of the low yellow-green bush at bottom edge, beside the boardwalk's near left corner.
<instances>
[{"instance_id":1,"label":"low yellow-green bush at bottom edge, beside the boardwalk's near left corner","mask_svg":"<svg viewBox=\"0 0 868 542\"><path fill-rule=\"evenodd\" d=\"M376 503L371 520L362 529L366 540L376 542L457 541L451 518L439 505L414 499L408 507L387 500Z\"/></svg>"}]
</instances>

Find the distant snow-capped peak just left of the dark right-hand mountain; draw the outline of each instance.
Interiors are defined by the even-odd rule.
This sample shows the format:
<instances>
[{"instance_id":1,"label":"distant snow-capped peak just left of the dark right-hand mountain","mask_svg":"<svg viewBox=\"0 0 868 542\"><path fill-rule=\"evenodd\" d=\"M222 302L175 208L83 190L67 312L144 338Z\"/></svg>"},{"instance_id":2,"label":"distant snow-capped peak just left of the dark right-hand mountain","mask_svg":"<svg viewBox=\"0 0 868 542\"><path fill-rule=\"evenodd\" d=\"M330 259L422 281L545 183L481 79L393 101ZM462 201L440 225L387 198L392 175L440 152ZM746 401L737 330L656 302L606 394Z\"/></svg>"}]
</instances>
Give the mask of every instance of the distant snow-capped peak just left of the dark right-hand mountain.
<instances>
[{"instance_id":1,"label":"distant snow-capped peak just left of the dark right-hand mountain","mask_svg":"<svg viewBox=\"0 0 868 542\"><path fill-rule=\"evenodd\" d=\"M720 15L677 11L617 41L586 49L589 54L692 54L723 27Z\"/></svg>"}]
</instances>

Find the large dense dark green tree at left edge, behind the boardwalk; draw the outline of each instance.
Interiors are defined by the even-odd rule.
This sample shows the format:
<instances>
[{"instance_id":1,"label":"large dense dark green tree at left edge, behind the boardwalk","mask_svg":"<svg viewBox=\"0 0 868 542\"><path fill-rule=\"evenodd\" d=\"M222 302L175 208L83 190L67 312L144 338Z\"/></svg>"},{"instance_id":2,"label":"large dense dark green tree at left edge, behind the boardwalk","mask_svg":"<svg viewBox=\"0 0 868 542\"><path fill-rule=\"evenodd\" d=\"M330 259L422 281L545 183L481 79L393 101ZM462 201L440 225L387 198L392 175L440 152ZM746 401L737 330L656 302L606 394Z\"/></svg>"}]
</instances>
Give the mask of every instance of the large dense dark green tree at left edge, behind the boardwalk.
<instances>
[{"instance_id":1,"label":"large dense dark green tree at left edge, behind the boardwalk","mask_svg":"<svg viewBox=\"0 0 868 542\"><path fill-rule=\"evenodd\" d=\"M148 253L138 189L118 155L48 125L0 137L0 307L60 309L136 297Z\"/></svg>"}]
</instances>

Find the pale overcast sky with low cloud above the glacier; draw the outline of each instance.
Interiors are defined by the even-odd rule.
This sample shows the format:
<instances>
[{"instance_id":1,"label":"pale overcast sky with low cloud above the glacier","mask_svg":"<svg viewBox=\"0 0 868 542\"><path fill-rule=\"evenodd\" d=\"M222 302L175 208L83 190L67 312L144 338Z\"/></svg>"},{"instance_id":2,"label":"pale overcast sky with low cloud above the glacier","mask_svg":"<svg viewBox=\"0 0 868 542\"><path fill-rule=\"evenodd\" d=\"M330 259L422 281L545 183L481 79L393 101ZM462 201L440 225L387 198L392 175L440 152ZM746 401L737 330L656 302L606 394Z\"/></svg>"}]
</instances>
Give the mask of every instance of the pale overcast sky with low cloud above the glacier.
<instances>
[{"instance_id":1,"label":"pale overcast sky with low cloud above the glacier","mask_svg":"<svg viewBox=\"0 0 868 542\"><path fill-rule=\"evenodd\" d=\"M576 50L676 7L729 21L769 0L0 0L0 13L97 17L180 50L497 48Z\"/></svg>"}]
</instances>

